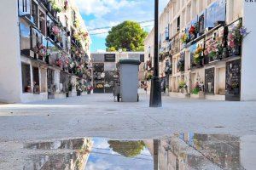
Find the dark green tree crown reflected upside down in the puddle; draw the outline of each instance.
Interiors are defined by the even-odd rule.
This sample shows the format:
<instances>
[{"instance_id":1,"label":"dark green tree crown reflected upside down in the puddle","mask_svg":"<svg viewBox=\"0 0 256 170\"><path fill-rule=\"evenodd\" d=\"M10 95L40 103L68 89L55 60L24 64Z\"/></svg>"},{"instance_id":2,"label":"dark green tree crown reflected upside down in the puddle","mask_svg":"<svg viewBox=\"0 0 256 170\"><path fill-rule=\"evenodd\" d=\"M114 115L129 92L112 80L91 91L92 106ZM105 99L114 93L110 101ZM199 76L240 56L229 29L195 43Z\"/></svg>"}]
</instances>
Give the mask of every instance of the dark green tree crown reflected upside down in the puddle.
<instances>
[{"instance_id":1,"label":"dark green tree crown reflected upside down in the puddle","mask_svg":"<svg viewBox=\"0 0 256 170\"><path fill-rule=\"evenodd\" d=\"M145 146L143 141L109 140L108 144L113 151L125 157L138 156Z\"/></svg>"}]
</instances>

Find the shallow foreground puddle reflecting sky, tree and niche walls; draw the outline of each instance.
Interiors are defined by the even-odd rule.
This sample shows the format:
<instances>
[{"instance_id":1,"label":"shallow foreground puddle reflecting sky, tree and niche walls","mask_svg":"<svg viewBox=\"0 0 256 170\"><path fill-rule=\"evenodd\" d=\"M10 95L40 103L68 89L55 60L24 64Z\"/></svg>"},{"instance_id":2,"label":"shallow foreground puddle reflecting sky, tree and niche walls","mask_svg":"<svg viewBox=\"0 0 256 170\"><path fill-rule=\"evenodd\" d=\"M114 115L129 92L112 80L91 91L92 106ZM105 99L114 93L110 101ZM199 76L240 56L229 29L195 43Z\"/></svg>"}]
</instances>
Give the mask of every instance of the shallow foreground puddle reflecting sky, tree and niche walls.
<instances>
[{"instance_id":1,"label":"shallow foreground puddle reflecting sky, tree and niche walls","mask_svg":"<svg viewBox=\"0 0 256 170\"><path fill-rule=\"evenodd\" d=\"M25 144L37 154L26 158L23 169L255 169L255 142L255 136L180 133L137 141L83 138Z\"/></svg>"}]
</instances>

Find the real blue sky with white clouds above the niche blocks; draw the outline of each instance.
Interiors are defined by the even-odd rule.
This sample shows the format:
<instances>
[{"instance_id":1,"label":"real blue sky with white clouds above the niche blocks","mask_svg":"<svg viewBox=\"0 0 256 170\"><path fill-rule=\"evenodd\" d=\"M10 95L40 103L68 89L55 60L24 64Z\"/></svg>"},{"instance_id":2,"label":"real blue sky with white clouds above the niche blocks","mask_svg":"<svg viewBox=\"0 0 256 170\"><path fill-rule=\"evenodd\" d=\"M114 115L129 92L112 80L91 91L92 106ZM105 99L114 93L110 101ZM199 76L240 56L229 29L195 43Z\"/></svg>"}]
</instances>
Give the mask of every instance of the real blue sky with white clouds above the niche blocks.
<instances>
[{"instance_id":1,"label":"real blue sky with white clouds above the niche blocks","mask_svg":"<svg viewBox=\"0 0 256 170\"><path fill-rule=\"evenodd\" d=\"M168 0L160 0L160 11ZM154 20L154 0L76 0L80 13L87 28L102 28L116 26L125 20ZM153 22L142 24L146 31L152 29ZM108 29L97 30L91 33L108 32ZM108 33L90 35L91 52L106 49L105 38Z\"/></svg>"}]
</instances>

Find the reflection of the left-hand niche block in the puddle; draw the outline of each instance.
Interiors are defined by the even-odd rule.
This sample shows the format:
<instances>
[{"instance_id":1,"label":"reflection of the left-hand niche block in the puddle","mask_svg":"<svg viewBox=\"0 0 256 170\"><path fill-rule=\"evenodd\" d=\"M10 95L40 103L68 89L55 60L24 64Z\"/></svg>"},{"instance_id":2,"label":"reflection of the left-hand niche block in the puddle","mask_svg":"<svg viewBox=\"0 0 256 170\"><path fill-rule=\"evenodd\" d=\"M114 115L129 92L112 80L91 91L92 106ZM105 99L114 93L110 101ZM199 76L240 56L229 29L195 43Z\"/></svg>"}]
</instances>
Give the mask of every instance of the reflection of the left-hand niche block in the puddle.
<instances>
[{"instance_id":1,"label":"reflection of the left-hand niche block in the puddle","mask_svg":"<svg viewBox=\"0 0 256 170\"><path fill-rule=\"evenodd\" d=\"M26 144L25 148L32 150L73 150L69 152L56 152L54 154L43 154L33 156L24 166L31 170L54 170L54 169L84 169L90 151L92 149L91 139L72 139L55 142L44 142L38 144Z\"/></svg>"}]
</instances>

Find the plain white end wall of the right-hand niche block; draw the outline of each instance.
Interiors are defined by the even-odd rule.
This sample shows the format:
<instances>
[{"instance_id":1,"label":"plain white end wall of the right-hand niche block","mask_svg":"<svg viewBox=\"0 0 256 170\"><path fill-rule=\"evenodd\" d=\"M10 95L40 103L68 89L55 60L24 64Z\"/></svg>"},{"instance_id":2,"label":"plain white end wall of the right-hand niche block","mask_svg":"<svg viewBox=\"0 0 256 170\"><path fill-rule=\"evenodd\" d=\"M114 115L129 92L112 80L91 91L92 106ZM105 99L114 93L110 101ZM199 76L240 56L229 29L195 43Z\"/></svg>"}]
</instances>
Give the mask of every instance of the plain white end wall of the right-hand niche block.
<instances>
[{"instance_id":1,"label":"plain white end wall of the right-hand niche block","mask_svg":"<svg viewBox=\"0 0 256 170\"><path fill-rule=\"evenodd\" d=\"M242 43L241 52L241 100L256 100L255 88L255 42L256 42L256 2L243 3L243 26L251 31Z\"/></svg>"}]
</instances>

